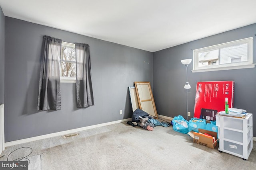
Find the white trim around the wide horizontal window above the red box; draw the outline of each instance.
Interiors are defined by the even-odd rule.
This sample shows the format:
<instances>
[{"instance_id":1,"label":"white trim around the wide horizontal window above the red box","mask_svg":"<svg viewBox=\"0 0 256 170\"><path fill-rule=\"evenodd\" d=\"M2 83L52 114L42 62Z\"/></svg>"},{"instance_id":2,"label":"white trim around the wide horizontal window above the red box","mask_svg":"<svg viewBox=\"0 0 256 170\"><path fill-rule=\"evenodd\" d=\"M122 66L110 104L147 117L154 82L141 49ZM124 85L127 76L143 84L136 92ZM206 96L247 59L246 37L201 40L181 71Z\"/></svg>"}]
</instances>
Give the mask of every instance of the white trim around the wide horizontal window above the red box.
<instances>
[{"instance_id":1,"label":"white trim around the wide horizontal window above the red box","mask_svg":"<svg viewBox=\"0 0 256 170\"><path fill-rule=\"evenodd\" d=\"M207 67L199 67L198 66L198 53L204 51L210 51L216 48L229 47L232 45L248 43L248 61L238 62L238 63L228 63L228 64L219 64L219 65L211 65ZM255 64L253 63L253 37L240 39L236 41L231 41L228 43L222 43L218 45L213 45L210 47L204 47L201 49L196 49L193 52L194 54L194 67L192 72L206 72L206 71L218 71L218 70L232 70L232 69L240 69L240 68L254 68Z\"/></svg>"}]
</instances>

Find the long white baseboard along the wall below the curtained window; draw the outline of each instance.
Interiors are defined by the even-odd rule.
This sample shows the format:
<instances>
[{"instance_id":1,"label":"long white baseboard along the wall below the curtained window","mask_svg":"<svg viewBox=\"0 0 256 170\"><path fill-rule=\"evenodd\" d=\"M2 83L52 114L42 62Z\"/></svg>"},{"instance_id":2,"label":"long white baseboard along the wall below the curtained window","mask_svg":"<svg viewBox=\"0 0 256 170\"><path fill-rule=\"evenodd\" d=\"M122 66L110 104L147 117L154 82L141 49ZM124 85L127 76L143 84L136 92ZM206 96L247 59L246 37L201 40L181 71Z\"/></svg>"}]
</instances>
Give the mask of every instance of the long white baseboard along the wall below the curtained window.
<instances>
[{"instance_id":1,"label":"long white baseboard along the wall below the curtained window","mask_svg":"<svg viewBox=\"0 0 256 170\"><path fill-rule=\"evenodd\" d=\"M67 130L67 131L50 133L50 134L47 134L47 135L30 137L30 138L26 138L26 139L20 139L20 140L17 140L17 141L10 141L10 142L5 143L5 147L10 147L10 146L13 146L13 145L18 145L18 144L22 144L22 143L37 141L37 140L40 140L40 139L46 139L46 138L50 138L50 137L68 135L70 133L76 133L76 132L84 131L84 130L87 130L87 129L93 129L93 128L96 128L96 127L102 127L102 126L106 126L106 125L112 125L112 124L121 123L121 122L124 122L124 121L131 121L131 120L132 120L132 118L122 119L122 120L118 120L118 121L111 121L111 122L107 122L107 123L101 123L101 124L98 124L98 125L80 127L80 128L77 128L77 129L71 129L71 130Z\"/></svg>"}]
</instances>

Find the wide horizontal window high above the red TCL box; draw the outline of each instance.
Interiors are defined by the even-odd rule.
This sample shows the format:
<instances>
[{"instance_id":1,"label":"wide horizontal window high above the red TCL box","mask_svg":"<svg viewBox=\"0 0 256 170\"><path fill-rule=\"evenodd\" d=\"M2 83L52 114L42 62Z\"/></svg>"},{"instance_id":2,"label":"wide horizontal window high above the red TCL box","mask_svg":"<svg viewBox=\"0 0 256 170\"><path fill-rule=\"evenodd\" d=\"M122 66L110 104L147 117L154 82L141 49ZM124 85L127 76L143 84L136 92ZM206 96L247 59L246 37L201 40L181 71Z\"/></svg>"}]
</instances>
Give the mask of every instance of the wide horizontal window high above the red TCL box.
<instances>
[{"instance_id":1,"label":"wide horizontal window high above the red TCL box","mask_svg":"<svg viewBox=\"0 0 256 170\"><path fill-rule=\"evenodd\" d=\"M192 72L253 68L253 37L194 50Z\"/></svg>"}]
</instances>

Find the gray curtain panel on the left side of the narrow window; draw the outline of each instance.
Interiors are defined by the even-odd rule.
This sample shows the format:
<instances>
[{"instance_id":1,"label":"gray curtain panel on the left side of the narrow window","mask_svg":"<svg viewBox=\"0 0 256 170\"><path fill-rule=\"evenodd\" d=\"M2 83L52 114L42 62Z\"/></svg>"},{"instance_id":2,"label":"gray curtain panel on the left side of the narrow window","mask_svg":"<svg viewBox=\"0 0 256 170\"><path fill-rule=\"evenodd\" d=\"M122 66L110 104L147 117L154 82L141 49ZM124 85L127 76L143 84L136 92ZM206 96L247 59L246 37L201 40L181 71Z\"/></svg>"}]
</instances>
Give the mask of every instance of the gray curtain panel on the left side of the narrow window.
<instances>
[{"instance_id":1,"label":"gray curtain panel on the left side of the narrow window","mask_svg":"<svg viewBox=\"0 0 256 170\"><path fill-rule=\"evenodd\" d=\"M61 39L44 36L37 110L58 110L60 96Z\"/></svg>"}]
</instances>

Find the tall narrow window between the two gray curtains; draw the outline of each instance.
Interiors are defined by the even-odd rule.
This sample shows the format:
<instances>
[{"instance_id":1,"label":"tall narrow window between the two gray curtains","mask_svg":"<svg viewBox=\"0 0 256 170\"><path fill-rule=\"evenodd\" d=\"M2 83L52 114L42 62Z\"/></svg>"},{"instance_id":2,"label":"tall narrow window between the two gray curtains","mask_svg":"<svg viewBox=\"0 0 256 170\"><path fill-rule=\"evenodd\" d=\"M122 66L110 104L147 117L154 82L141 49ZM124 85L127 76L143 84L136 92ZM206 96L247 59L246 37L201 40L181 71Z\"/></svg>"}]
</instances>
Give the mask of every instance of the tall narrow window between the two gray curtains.
<instances>
[{"instance_id":1,"label":"tall narrow window between the two gray curtains","mask_svg":"<svg viewBox=\"0 0 256 170\"><path fill-rule=\"evenodd\" d=\"M60 57L60 81L76 82L75 44L62 41Z\"/></svg>"}]
</instances>

